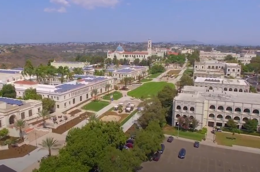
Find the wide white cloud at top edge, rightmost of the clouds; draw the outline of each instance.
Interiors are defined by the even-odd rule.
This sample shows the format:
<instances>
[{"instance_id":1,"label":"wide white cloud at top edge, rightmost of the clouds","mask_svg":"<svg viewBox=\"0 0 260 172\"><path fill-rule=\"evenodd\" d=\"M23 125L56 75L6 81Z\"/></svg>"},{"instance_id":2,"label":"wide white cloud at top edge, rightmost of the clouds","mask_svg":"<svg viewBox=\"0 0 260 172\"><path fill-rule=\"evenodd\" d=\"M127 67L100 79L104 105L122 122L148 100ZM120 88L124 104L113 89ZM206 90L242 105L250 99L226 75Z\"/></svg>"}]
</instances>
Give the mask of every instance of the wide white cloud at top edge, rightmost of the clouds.
<instances>
[{"instance_id":1,"label":"wide white cloud at top edge, rightmost of the clouds","mask_svg":"<svg viewBox=\"0 0 260 172\"><path fill-rule=\"evenodd\" d=\"M71 0L76 5L80 5L87 9L96 7L114 7L119 3L119 0Z\"/></svg>"}]
</instances>

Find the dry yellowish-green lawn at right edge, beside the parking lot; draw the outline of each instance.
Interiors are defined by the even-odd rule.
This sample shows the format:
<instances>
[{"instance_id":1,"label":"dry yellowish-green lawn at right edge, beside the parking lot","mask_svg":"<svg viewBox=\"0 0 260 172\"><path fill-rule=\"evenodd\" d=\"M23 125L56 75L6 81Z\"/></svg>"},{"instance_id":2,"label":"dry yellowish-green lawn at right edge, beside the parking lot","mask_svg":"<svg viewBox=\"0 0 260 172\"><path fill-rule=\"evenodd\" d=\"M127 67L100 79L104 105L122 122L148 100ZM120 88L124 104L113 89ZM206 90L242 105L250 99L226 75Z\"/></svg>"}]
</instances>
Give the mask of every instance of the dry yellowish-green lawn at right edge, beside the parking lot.
<instances>
[{"instance_id":1,"label":"dry yellowish-green lawn at right edge, beside the parking lot","mask_svg":"<svg viewBox=\"0 0 260 172\"><path fill-rule=\"evenodd\" d=\"M232 133L216 132L216 142L218 143L218 145L225 146L239 145L260 148L260 137L252 137L250 135L232 135Z\"/></svg>"}]
</instances>

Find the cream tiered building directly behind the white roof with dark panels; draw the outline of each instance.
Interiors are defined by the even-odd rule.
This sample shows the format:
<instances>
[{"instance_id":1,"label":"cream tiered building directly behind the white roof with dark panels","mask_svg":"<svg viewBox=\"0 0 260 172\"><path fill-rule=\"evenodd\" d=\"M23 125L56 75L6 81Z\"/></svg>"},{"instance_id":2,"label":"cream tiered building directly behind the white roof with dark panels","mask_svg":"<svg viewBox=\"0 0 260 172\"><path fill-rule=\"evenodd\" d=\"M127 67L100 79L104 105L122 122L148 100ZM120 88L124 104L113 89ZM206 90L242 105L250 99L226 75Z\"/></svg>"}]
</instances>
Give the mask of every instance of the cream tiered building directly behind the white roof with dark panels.
<instances>
[{"instance_id":1,"label":"cream tiered building directly behind the white roof with dark panels","mask_svg":"<svg viewBox=\"0 0 260 172\"><path fill-rule=\"evenodd\" d=\"M213 73L216 74L213 74ZM209 78L222 78L224 76L232 76L234 78L241 77L241 66L237 63L226 63L225 61L204 60L195 62L193 78L207 76Z\"/></svg>"}]
</instances>

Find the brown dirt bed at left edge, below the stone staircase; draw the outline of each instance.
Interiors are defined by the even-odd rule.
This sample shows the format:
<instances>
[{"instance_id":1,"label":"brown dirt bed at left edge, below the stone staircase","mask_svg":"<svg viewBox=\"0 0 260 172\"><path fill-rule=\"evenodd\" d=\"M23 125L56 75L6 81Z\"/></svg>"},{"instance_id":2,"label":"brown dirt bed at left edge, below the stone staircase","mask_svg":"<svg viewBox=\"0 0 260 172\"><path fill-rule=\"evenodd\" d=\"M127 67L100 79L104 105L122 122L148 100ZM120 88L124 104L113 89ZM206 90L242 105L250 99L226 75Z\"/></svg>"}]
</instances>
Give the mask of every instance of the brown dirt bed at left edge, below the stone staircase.
<instances>
[{"instance_id":1,"label":"brown dirt bed at left edge, below the stone staircase","mask_svg":"<svg viewBox=\"0 0 260 172\"><path fill-rule=\"evenodd\" d=\"M23 157L37 148L33 145L27 144L20 147L12 145L9 145L8 147L8 150L0 151L0 160Z\"/></svg>"}]
</instances>

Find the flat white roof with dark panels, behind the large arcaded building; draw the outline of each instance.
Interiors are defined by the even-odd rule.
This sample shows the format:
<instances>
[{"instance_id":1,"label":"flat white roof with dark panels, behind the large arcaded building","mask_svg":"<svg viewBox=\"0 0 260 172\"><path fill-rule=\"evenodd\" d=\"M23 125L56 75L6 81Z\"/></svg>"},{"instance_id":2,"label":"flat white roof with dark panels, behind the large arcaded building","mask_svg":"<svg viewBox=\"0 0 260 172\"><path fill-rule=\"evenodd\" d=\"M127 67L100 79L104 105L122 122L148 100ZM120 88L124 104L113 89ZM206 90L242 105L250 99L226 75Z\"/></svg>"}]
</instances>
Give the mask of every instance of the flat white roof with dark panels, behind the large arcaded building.
<instances>
[{"instance_id":1,"label":"flat white roof with dark panels, behind the large arcaded building","mask_svg":"<svg viewBox=\"0 0 260 172\"><path fill-rule=\"evenodd\" d=\"M219 83L219 84L230 84L230 85L249 85L247 81L242 79L227 79L227 78L203 78L197 77L194 82L198 83Z\"/></svg>"}]
</instances>

